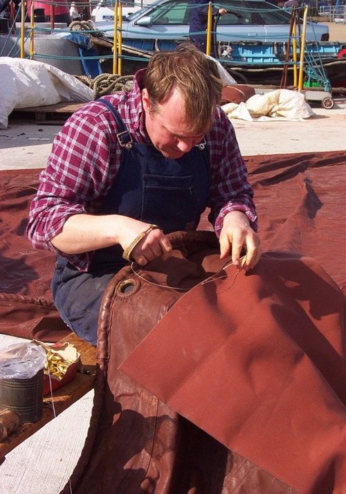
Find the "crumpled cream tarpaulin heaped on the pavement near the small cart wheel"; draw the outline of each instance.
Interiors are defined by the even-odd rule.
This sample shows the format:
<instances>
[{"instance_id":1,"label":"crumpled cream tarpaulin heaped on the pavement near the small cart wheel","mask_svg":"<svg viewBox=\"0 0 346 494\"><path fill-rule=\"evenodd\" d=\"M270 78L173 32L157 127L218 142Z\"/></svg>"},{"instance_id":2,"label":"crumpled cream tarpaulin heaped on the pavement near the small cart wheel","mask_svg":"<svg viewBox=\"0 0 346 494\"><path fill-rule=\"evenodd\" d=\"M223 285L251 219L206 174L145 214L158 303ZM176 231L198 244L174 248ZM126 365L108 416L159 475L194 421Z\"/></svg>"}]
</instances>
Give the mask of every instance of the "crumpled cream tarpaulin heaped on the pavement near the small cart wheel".
<instances>
[{"instance_id":1,"label":"crumpled cream tarpaulin heaped on the pavement near the small cart wheel","mask_svg":"<svg viewBox=\"0 0 346 494\"><path fill-rule=\"evenodd\" d=\"M313 116L311 107L304 95L289 89L276 89L264 94L255 94L245 103L227 103L222 106L228 118L242 120L264 120L280 118L303 120Z\"/></svg>"}]
</instances>

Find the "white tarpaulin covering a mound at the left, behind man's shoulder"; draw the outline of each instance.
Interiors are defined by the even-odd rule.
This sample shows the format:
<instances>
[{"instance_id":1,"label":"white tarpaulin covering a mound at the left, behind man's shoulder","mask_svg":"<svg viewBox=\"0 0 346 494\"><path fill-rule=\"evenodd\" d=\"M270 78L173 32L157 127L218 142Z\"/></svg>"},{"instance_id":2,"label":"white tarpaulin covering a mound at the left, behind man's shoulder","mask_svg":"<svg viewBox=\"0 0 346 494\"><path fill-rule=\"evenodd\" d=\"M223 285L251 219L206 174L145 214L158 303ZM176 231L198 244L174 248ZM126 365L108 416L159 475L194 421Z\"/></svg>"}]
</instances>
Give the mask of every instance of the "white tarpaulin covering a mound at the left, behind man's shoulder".
<instances>
[{"instance_id":1,"label":"white tarpaulin covering a mound at the left, behind man's shoulder","mask_svg":"<svg viewBox=\"0 0 346 494\"><path fill-rule=\"evenodd\" d=\"M35 60L0 57L0 79L3 129L8 127L8 116L14 109L93 100L93 90L76 77Z\"/></svg>"}]
</instances>

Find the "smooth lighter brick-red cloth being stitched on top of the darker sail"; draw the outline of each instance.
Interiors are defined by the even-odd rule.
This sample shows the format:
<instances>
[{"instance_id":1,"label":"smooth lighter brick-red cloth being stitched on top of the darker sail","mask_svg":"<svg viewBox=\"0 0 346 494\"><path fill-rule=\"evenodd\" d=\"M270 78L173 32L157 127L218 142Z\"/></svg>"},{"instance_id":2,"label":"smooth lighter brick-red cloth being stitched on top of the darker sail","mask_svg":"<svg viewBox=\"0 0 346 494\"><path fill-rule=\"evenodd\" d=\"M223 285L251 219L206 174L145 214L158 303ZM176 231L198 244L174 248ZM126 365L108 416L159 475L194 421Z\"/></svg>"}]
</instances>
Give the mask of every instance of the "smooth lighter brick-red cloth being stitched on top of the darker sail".
<instances>
[{"instance_id":1,"label":"smooth lighter brick-red cloth being stitched on top of the darker sail","mask_svg":"<svg viewBox=\"0 0 346 494\"><path fill-rule=\"evenodd\" d=\"M296 491L343 493L344 314L313 259L266 253L185 293L120 369Z\"/></svg>"}]
</instances>

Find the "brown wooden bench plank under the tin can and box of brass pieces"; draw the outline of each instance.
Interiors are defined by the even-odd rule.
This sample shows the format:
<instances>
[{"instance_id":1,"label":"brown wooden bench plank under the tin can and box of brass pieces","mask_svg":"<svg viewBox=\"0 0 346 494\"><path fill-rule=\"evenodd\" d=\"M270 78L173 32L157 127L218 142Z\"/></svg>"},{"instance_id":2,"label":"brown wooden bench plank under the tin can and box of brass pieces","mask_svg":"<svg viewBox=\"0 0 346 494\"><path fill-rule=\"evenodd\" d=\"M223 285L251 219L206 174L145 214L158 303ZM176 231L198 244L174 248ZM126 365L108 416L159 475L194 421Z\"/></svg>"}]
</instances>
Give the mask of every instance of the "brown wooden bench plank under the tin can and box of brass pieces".
<instances>
[{"instance_id":1,"label":"brown wooden bench plank under the tin can and box of brass pieces","mask_svg":"<svg viewBox=\"0 0 346 494\"><path fill-rule=\"evenodd\" d=\"M39 421L35 423L24 423L8 437L0 441L0 464L8 452L46 425L46 423L57 417L57 415L93 388L96 372L95 347L80 340L74 333L66 336L66 338L62 338L60 342L69 342L75 345L80 352L80 372L76 374L70 383L55 390L53 397L44 396L44 410L42 418Z\"/></svg>"}]
</instances>

